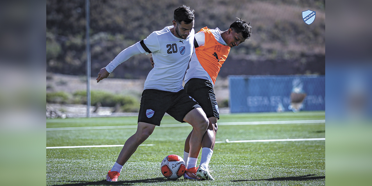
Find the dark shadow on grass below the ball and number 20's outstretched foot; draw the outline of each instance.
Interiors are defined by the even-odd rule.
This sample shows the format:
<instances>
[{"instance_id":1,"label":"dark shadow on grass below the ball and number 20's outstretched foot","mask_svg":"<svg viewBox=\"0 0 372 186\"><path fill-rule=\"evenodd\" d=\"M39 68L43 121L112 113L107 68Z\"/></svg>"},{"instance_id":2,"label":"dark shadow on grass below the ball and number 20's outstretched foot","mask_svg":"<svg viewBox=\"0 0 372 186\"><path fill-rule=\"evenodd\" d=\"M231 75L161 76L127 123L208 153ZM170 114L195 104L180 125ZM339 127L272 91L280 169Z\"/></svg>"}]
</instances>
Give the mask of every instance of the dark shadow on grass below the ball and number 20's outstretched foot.
<instances>
[{"instance_id":1,"label":"dark shadow on grass below the ball and number 20's outstretched foot","mask_svg":"<svg viewBox=\"0 0 372 186\"><path fill-rule=\"evenodd\" d=\"M160 183L160 182L172 182L173 180L166 179L165 177L157 177L152 179L144 180L128 180L128 181L118 181L118 182L107 182L106 180L97 182L81 182L81 181L64 181L70 182L62 185L52 185L52 186L87 186L87 185L134 185L135 183Z\"/></svg>"}]
</instances>

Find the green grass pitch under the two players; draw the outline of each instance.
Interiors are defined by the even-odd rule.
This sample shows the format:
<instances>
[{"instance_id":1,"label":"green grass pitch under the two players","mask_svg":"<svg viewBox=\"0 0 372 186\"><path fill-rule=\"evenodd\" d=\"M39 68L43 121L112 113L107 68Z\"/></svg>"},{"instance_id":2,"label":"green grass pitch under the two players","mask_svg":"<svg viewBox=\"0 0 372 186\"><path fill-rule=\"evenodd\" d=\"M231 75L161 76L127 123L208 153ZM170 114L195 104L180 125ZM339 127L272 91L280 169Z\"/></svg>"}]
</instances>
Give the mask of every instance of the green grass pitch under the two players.
<instances>
[{"instance_id":1,"label":"green grass pitch under the two players","mask_svg":"<svg viewBox=\"0 0 372 186\"><path fill-rule=\"evenodd\" d=\"M219 122L325 119L324 112L244 113L222 115ZM47 128L135 125L137 117L47 119ZM164 116L161 124L177 124ZM47 149L47 185L325 185L325 141L218 143L212 156L215 181L165 179L160 162L183 156L191 127L155 128L124 165L119 182L108 183L107 171L122 147ZM128 129L47 131L47 147L117 145L135 132ZM216 141L324 138L325 124L221 125ZM200 162L200 155L199 160Z\"/></svg>"}]
</instances>

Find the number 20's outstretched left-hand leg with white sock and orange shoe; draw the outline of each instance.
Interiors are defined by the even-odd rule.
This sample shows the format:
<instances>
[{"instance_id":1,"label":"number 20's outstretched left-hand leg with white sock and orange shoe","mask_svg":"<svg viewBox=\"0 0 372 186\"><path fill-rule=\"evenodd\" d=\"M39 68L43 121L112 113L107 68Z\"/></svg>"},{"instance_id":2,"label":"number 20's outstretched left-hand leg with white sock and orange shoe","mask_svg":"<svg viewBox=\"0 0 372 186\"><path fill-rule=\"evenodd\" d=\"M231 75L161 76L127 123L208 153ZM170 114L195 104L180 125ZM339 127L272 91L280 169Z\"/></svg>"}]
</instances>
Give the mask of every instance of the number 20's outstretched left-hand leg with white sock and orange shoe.
<instances>
[{"instance_id":1,"label":"number 20's outstretched left-hand leg with white sock and orange shoe","mask_svg":"<svg viewBox=\"0 0 372 186\"><path fill-rule=\"evenodd\" d=\"M138 122L136 133L125 141L124 147L122 148L118 159L106 176L107 181L116 182L118 180L118 176L120 175L123 165L137 150L138 146L141 145L153 133L154 129L155 125L153 124Z\"/></svg>"}]
</instances>

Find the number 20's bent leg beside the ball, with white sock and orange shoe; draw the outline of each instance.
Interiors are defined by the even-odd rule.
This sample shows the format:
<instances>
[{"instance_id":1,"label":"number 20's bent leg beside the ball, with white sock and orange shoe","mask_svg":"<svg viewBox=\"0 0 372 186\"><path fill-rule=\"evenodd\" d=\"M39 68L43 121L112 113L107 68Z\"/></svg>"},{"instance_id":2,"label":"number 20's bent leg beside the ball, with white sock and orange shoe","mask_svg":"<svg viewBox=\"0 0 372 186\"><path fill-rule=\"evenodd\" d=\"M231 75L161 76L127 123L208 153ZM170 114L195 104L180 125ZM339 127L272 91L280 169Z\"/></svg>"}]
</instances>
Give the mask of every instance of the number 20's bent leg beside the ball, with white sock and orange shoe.
<instances>
[{"instance_id":1,"label":"number 20's bent leg beside the ball, with white sock and orange shoe","mask_svg":"<svg viewBox=\"0 0 372 186\"><path fill-rule=\"evenodd\" d=\"M184 177L196 179L196 161L198 160L202 139L208 128L209 120L203 112L203 109L196 108L187 113L183 121L186 121L193 126L193 132L190 134L189 138L188 165L186 165L187 167Z\"/></svg>"}]
</instances>

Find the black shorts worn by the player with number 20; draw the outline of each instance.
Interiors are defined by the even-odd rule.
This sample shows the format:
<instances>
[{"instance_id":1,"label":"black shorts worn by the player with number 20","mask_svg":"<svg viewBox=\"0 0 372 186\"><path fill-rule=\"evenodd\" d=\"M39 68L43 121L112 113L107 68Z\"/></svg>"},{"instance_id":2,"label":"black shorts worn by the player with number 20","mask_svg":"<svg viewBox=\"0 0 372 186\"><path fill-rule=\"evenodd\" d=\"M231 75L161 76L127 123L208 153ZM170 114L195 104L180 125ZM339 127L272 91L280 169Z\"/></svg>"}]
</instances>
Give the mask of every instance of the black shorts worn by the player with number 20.
<instances>
[{"instance_id":1,"label":"black shorts worn by the player with number 20","mask_svg":"<svg viewBox=\"0 0 372 186\"><path fill-rule=\"evenodd\" d=\"M169 92L156 89L145 89L142 92L138 122L160 126L160 121L168 113L179 122L184 122L186 114L195 108L201 108L184 89Z\"/></svg>"}]
</instances>

